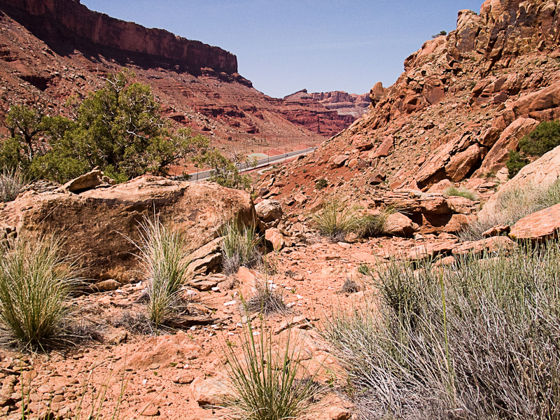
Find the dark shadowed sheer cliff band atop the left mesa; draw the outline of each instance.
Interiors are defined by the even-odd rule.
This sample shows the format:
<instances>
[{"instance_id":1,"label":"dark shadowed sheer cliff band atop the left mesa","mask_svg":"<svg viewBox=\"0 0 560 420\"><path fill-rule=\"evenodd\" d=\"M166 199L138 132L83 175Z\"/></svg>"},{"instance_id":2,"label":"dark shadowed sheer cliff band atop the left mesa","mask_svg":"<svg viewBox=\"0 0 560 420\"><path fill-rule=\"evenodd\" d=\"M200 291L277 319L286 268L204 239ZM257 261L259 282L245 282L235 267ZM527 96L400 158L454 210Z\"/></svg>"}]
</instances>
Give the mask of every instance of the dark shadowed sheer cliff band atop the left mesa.
<instances>
[{"instance_id":1,"label":"dark shadowed sheer cliff band atop the left mesa","mask_svg":"<svg viewBox=\"0 0 560 420\"><path fill-rule=\"evenodd\" d=\"M148 29L93 12L79 0L0 0L0 4L26 10L58 22L78 36L110 48L173 59L190 72L211 67L237 73L237 57L218 47L190 41L163 29Z\"/></svg>"}]
</instances>

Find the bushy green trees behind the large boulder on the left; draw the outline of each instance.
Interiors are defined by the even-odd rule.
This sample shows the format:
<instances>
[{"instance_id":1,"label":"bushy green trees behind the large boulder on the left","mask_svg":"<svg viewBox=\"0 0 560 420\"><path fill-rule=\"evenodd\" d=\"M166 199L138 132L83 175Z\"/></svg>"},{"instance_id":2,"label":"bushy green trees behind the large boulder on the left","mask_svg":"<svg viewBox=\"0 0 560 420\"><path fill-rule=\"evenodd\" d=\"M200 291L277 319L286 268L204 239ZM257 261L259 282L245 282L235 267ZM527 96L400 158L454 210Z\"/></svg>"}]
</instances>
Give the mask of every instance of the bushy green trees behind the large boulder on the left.
<instances>
[{"instance_id":1,"label":"bushy green trees behind the large boulder on the left","mask_svg":"<svg viewBox=\"0 0 560 420\"><path fill-rule=\"evenodd\" d=\"M208 147L209 140L190 128L171 132L150 87L132 78L129 71L108 76L102 89L76 106L75 121L12 107L0 164L61 183L98 167L122 182L146 172L168 175L171 165Z\"/></svg>"}]
</instances>

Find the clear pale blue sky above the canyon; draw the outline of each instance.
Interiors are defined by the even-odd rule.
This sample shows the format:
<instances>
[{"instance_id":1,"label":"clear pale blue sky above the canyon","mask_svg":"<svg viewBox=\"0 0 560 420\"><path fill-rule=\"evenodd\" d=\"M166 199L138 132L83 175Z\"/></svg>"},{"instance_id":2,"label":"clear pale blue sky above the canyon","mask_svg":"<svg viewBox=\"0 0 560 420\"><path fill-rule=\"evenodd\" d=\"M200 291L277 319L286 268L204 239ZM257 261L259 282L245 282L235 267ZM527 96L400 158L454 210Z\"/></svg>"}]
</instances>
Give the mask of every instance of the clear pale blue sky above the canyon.
<instances>
[{"instance_id":1,"label":"clear pale blue sky above the canyon","mask_svg":"<svg viewBox=\"0 0 560 420\"><path fill-rule=\"evenodd\" d=\"M216 45L272 97L297 90L365 93L461 9L482 0L81 0L92 10Z\"/></svg>"}]
</instances>

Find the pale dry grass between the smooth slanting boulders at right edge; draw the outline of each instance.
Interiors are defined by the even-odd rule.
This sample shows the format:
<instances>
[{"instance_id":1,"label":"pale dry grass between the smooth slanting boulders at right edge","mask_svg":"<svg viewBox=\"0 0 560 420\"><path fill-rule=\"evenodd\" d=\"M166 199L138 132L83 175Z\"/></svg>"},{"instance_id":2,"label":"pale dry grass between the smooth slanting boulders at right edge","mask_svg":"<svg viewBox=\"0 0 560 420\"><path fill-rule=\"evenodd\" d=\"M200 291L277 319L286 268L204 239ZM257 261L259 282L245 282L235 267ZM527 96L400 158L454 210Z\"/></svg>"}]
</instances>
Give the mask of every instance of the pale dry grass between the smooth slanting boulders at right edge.
<instances>
[{"instance_id":1,"label":"pale dry grass between the smooth slanting boulders at right edge","mask_svg":"<svg viewBox=\"0 0 560 420\"><path fill-rule=\"evenodd\" d=\"M521 218L560 203L560 179L547 188L528 184L498 193L496 212L479 218L459 233L463 240L482 239L482 233L496 225L514 225Z\"/></svg>"}]
</instances>

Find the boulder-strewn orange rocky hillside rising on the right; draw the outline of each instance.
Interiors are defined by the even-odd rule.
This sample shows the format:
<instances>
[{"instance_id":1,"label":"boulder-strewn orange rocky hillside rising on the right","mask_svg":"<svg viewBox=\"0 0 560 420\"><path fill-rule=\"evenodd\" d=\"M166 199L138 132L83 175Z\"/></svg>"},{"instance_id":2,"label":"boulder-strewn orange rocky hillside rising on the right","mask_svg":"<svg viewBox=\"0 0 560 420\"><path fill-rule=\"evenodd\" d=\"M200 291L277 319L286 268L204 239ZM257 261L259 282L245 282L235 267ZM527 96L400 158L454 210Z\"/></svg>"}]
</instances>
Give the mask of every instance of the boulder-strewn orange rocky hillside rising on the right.
<instances>
[{"instance_id":1,"label":"boulder-strewn orange rocky hillside rising on the right","mask_svg":"<svg viewBox=\"0 0 560 420\"><path fill-rule=\"evenodd\" d=\"M519 139L560 116L559 20L558 1L461 10L457 29L407 57L394 85L372 88L367 114L264 186L290 203L302 193L308 208L335 193L371 207L388 190L451 183L484 197ZM328 188L314 188L319 178Z\"/></svg>"}]
</instances>

